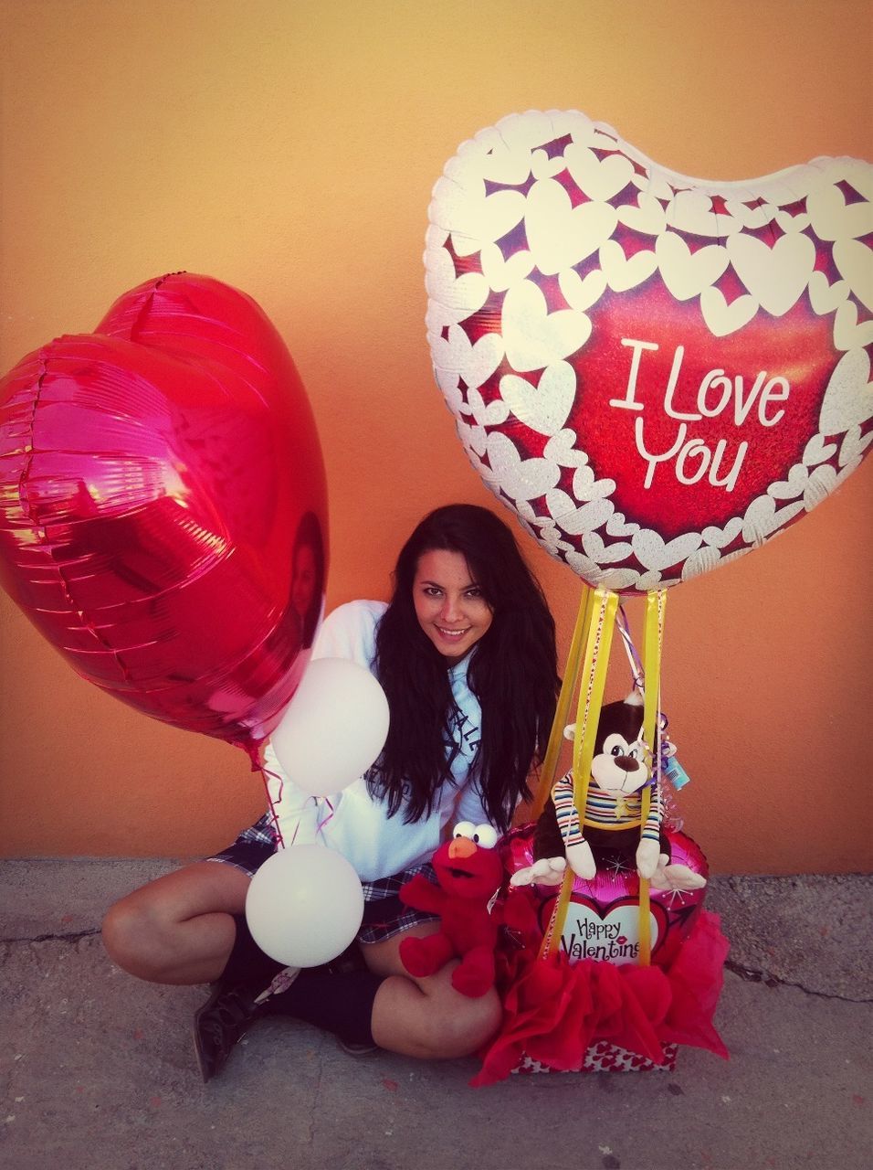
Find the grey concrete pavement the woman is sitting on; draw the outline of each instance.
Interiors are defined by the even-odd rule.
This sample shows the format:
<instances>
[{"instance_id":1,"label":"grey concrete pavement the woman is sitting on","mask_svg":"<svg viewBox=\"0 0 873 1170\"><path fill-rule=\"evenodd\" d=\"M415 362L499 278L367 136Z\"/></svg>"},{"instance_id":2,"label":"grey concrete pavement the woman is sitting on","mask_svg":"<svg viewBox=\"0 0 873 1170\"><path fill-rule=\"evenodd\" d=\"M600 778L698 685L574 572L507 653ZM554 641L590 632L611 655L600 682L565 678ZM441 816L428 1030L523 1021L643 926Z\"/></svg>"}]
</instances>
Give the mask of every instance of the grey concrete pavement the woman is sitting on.
<instances>
[{"instance_id":1,"label":"grey concrete pavement the woman is sitting on","mask_svg":"<svg viewBox=\"0 0 873 1170\"><path fill-rule=\"evenodd\" d=\"M0 862L4 1170L861 1170L871 1164L871 892L865 876L725 878L723 1061L673 1073L514 1076L472 1060L352 1058L259 1023L205 1086L199 987L112 968L98 925L178 862Z\"/></svg>"}]
</instances>

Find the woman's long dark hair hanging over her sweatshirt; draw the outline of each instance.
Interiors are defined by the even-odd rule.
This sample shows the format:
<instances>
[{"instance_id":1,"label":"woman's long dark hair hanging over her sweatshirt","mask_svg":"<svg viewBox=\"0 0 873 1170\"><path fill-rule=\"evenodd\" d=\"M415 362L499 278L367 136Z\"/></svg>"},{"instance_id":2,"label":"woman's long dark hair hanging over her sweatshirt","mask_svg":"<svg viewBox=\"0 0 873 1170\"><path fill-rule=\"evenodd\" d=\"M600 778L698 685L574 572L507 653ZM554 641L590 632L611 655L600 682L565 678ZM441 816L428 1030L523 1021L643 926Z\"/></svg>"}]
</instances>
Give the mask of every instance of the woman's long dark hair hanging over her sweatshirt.
<instances>
[{"instance_id":1,"label":"woman's long dark hair hanging over her sweatshirt","mask_svg":"<svg viewBox=\"0 0 873 1170\"><path fill-rule=\"evenodd\" d=\"M528 797L527 773L542 758L560 680L555 624L515 539L493 512L474 504L437 508L400 551L394 596L376 631L375 670L392 713L369 790L406 821L430 812L451 779L446 743L455 715L443 655L418 625L413 583L425 552L459 552L493 611L471 652L470 689L481 707L481 738L472 764L489 819L505 831L515 804ZM406 790L406 791L404 791Z\"/></svg>"}]
</instances>

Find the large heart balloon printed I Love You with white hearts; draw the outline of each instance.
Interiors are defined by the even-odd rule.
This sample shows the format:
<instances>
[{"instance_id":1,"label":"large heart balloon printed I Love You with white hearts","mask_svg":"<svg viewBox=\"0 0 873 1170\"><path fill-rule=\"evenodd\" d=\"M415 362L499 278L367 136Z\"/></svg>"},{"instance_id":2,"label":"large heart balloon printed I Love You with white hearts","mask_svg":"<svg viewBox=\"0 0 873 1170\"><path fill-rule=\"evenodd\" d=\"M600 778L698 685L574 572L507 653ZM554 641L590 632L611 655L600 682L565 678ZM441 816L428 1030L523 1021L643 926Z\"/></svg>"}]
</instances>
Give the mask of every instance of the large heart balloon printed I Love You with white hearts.
<instances>
[{"instance_id":1,"label":"large heart balloon printed I Love You with white hearts","mask_svg":"<svg viewBox=\"0 0 873 1170\"><path fill-rule=\"evenodd\" d=\"M486 486L593 585L763 544L873 436L873 168L667 171L569 111L465 142L429 209L428 339Z\"/></svg>"}]
</instances>

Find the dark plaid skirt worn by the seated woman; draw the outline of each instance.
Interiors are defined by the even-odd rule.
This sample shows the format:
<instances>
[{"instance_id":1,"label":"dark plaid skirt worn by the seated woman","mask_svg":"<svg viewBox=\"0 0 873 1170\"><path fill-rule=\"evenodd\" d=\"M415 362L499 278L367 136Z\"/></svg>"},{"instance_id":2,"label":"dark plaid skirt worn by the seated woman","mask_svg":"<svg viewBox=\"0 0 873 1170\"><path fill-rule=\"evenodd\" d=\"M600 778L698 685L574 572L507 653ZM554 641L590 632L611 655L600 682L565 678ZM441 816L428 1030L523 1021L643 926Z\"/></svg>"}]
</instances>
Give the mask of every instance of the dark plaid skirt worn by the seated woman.
<instances>
[{"instance_id":1,"label":"dark plaid skirt worn by the seated woman","mask_svg":"<svg viewBox=\"0 0 873 1170\"><path fill-rule=\"evenodd\" d=\"M244 828L233 845L222 849L221 853L207 858L207 861L223 861L226 865L236 866L237 869L242 869L243 873L252 878L275 852L276 839L270 826L270 817L264 814L256 824ZM410 906L403 906L400 900L400 887L415 874L424 874L430 880L436 878L434 867L425 861L421 866L413 866L399 874L392 874L389 878L361 882L363 922L358 931L358 942L381 943L420 922L435 921L436 915L414 910Z\"/></svg>"}]
</instances>

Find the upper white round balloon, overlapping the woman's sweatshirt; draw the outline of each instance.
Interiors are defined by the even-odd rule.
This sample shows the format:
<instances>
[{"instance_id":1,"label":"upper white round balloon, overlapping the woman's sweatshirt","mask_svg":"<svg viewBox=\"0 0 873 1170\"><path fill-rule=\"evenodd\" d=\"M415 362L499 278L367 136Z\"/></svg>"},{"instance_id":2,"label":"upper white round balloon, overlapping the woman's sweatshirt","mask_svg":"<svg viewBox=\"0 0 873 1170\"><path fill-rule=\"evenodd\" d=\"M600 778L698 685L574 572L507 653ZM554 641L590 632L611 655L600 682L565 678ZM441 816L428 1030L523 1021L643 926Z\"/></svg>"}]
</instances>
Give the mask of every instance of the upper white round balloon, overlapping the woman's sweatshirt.
<instances>
[{"instance_id":1,"label":"upper white round balloon, overlapping the woman's sweatshirt","mask_svg":"<svg viewBox=\"0 0 873 1170\"><path fill-rule=\"evenodd\" d=\"M276 758L297 787L330 796L358 779L388 735L388 700L365 667L316 659L272 732Z\"/></svg>"}]
</instances>

